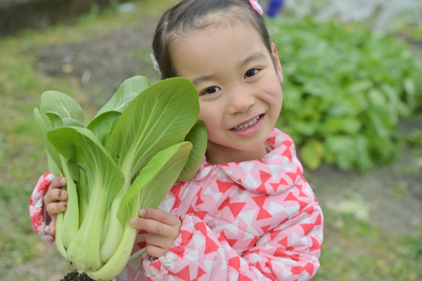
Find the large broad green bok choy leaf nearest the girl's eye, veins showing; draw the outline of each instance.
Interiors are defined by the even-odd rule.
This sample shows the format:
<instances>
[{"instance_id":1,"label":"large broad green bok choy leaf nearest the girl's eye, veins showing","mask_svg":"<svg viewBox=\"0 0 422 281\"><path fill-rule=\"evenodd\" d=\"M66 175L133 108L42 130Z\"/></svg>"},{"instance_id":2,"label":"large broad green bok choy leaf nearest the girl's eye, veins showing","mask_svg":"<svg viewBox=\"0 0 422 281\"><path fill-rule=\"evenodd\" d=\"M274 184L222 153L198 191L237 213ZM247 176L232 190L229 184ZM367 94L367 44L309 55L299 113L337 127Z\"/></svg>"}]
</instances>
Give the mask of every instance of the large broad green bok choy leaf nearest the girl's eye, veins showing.
<instances>
[{"instance_id":1,"label":"large broad green bok choy leaf nearest the girl's eye, veins showing","mask_svg":"<svg viewBox=\"0 0 422 281\"><path fill-rule=\"evenodd\" d=\"M106 148L135 176L158 151L184 141L199 116L198 92L188 79L167 79L137 96L120 116Z\"/></svg>"}]
</instances>

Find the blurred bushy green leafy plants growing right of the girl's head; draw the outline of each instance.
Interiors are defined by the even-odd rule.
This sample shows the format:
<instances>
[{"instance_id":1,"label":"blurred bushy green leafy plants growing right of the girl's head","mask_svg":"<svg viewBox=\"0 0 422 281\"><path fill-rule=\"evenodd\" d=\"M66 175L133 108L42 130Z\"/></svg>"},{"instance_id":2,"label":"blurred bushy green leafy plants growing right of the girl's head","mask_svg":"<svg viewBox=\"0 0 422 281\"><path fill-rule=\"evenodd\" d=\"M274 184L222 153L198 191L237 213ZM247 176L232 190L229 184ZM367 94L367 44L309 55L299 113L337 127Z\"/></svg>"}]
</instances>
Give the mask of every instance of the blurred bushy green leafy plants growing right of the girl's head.
<instances>
[{"instance_id":1,"label":"blurred bushy green leafy plants growing right of the girl's head","mask_svg":"<svg viewBox=\"0 0 422 281\"><path fill-rule=\"evenodd\" d=\"M396 159L399 117L420 105L422 69L403 41L362 25L279 18L285 102L278 125L306 166L369 169Z\"/></svg>"}]
</instances>

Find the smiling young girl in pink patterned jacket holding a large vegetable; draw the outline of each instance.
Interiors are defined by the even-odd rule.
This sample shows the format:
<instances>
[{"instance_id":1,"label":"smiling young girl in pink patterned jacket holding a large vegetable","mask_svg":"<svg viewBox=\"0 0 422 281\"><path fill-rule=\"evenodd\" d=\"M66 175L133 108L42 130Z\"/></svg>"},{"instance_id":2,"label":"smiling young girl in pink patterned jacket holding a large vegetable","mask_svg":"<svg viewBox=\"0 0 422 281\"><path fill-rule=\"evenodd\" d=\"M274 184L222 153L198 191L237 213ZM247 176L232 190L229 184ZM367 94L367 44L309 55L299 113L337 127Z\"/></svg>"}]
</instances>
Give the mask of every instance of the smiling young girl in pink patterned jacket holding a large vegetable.
<instances>
[{"instance_id":1,"label":"smiling young girl in pink patterned jacket holding a large vegetable","mask_svg":"<svg viewBox=\"0 0 422 281\"><path fill-rule=\"evenodd\" d=\"M122 280L309 280L319 268L323 216L292 138L274 129L283 75L262 9L252 0L184 0L153 39L162 79L198 89L207 152L158 209L132 219L139 235ZM41 176L34 230L54 244L65 178Z\"/></svg>"}]
</instances>

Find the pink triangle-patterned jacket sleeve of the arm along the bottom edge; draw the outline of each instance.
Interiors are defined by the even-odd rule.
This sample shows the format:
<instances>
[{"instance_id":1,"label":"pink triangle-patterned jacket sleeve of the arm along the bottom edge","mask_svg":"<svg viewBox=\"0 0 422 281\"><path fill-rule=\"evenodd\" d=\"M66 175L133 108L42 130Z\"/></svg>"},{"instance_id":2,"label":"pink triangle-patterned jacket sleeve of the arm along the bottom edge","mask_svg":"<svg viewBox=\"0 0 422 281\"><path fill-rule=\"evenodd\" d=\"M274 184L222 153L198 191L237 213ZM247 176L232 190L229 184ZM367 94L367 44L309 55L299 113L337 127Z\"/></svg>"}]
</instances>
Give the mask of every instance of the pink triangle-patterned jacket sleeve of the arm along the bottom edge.
<instances>
[{"instance_id":1,"label":"pink triangle-patterned jacket sleeve of the arm along the bottom edge","mask_svg":"<svg viewBox=\"0 0 422 281\"><path fill-rule=\"evenodd\" d=\"M319 268L323 217L317 202L264 233L243 253L230 247L223 235L212 232L197 216L183 215L181 220L180 235L165 256L153 259L143 254L148 281L305 281ZM297 246L291 246L292 240L297 240L293 242Z\"/></svg>"}]
</instances>

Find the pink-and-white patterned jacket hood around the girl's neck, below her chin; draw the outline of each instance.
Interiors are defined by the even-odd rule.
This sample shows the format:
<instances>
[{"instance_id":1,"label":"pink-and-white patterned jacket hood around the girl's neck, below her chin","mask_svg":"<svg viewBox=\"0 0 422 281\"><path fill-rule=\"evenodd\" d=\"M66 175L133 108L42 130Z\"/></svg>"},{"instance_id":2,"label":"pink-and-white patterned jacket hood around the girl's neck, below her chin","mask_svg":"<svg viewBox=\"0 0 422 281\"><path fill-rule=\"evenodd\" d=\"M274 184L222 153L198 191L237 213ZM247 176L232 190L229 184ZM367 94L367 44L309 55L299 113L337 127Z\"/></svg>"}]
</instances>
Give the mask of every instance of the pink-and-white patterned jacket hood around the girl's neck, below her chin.
<instances>
[{"instance_id":1,"label":"pink-and-white patterned jacket hood around the girl's neck, below her chin","mask_svg":"<svg viewBox=\"0 0 422 281\"><path fill-rule=\"evenodd\" d=\"M272 129L264 143L268 154L261 159L219 164L227 176L250 191L274 195L291 188L303 174L293 139L279 129ZM207 176L215 166L204 157L195 181Z\"/></svg>"}]
</instances>

